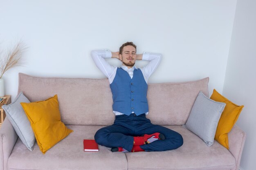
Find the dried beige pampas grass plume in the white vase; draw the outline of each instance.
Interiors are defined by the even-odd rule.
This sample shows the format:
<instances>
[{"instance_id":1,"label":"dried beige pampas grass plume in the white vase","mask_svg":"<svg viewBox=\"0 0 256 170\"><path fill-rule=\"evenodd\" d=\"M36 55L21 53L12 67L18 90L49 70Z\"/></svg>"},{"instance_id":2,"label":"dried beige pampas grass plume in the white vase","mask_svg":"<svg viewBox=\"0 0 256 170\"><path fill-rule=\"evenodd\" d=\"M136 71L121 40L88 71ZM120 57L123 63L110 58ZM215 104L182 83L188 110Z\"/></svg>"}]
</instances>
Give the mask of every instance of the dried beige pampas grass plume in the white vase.
<instances>
[{"instance_id":1,"label":"dried beige pampas grass plume in the white vase","mask_svg":"<svg viewBox=\"0 0 256 170\"><path fill-rule=\"evenodd\" d=\"M0 51L0 78L10 68L20 66L23 63L22 57L27 50L27 46L20 40L16 45L10 48L7 52Z\"/></svg>"}]
</instances>

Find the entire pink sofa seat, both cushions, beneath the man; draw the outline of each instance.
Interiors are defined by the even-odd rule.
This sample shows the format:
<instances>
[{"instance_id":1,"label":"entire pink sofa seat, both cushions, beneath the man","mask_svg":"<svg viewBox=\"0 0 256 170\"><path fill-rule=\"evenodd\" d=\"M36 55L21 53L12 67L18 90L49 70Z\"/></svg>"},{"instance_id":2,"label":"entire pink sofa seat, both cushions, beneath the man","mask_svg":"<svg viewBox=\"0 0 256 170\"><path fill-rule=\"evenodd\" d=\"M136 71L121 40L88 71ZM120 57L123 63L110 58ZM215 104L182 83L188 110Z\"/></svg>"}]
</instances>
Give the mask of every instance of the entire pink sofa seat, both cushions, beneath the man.
<instances>
[{"instance_id":1,"label":"entire pink sofa seat, both cushions, beneath the man","mask_svg":"<svg viewBox=\"0 0 256 170\"><path fill-rule=\"evenodd\" d=\"M208 147L202 139L182 126L165 126L182 135L184 144L180 148L163 152L137 153L111 152L110 148L100 145L99 152L85 152L83 151L83 139L93 139L96 131L103 126L67 125L67 127L73 129L74 132L49 149L45 155L40 152L37 144L33 151L29 151L18 139L9 157L8 168L22 170L213 170L232 169L236 163L229 150L218 142Z\"/></svg>"}]
</instances>

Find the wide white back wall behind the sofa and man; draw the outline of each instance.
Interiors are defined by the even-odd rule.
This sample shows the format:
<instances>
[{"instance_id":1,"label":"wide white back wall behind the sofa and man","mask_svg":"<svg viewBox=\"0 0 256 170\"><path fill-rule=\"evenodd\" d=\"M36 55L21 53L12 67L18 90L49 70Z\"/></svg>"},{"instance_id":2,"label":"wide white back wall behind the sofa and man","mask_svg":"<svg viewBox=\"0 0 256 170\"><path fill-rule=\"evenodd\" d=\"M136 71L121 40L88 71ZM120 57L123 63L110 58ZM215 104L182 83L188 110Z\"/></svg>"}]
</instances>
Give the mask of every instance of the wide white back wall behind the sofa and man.
<instances>
[{"instance_id":1,"label":"wide white back wall behind the sofa and man","mask_svg":"<svg viewBox=\"0 0 256 170\"><path fill-rule=\"evenodd\" d=\"M2 46L21 37L29 46L27 65L4 74L5 92L16 96L18 72L104 78L90 51L126 41L163 54L149 83L209 76L209 93L222 92L235 9L236 0L0 0Z\"/></svg>"}]
</instances>

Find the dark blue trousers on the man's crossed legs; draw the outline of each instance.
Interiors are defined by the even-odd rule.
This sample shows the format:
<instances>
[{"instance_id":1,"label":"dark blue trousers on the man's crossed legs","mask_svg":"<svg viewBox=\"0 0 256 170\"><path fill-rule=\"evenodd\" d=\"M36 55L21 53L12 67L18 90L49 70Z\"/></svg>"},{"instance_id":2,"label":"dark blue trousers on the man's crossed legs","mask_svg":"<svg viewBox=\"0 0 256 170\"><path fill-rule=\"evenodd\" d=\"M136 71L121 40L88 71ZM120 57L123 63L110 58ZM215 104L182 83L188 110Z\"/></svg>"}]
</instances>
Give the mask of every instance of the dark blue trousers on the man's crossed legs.
<instances>
[{"instance_id":1,"label":"dark blue trousers on the man's crossed legs","mask_svg":"<svg viewBox=\"0 0 256 170\"><path fill-rule=\"evenodd\" d=\"M179 148L183 144L182 136L166 127L152 124L145 114L136 116L119 115L115 117L115 122L111 126L99 129L94 135L97 144L109 148L122 147L128 151L132 150L133 137L144 134L162 133L164 140L141 145L145 151L164 151Z\"/></svg>"}]
</instances>

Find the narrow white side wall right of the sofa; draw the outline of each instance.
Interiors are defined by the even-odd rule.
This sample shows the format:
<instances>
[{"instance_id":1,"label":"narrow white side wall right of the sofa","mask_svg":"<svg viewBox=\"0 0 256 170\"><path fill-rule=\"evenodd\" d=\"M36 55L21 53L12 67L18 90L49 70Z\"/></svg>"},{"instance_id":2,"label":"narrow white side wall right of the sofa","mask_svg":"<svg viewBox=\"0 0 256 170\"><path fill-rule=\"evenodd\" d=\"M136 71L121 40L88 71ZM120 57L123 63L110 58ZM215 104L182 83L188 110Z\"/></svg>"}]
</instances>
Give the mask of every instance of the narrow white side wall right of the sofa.
<instances>
[{"instance_id":1,"label":"narrow white side wall right of the sofa","mask_svg":"<svg viewBox=\"0 0 256 170\"><path fill-rule=\"evenodd\" d=\"M240 163L243 170L256 167L256 1L238 0L223 95L245 105L237 125L247 139Z\"/></svg>"}]
</instances>

